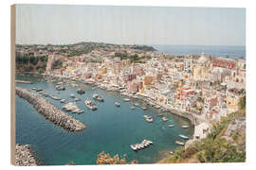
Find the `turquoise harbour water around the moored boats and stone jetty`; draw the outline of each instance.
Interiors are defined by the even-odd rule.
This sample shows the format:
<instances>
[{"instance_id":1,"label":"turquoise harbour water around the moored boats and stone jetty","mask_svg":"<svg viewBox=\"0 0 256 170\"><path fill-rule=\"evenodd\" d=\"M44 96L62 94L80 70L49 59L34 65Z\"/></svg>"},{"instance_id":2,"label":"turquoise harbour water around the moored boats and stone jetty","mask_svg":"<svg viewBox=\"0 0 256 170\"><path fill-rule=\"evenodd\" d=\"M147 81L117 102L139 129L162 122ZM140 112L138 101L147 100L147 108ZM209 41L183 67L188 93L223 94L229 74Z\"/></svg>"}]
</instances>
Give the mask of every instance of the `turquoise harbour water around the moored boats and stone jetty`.
<instances>
[{"instance_id":1,"label":"turquoise harbour water around the moored boats and stone jetty","mask_svg":"<svg viewBox=\"0 0 256 170\"><path fill-rule=\"evenodd\" d=\"M141 110L136 107L131 110L131 102L124 102L119 93L110 93L101 89L92 89L91 86L83 85L85 93L80 95L76 88L64 85L66 90L58 94L55 90L55 83L39 81L41 76L18 75L17 79L31 80L33 84L16 84L16 86L31 89L32 87L42 88L47 93L53 93L64 99L72 101L70 93L80 97L82 101L77 106L84 110L82 114L71 114L86 125L80 132L68 132L61 127L56 127L34 110L27 101L16 96L16 143L31 144L37 157L44 164L66 164L74 161L76 164L95 164L97 155L104 151L111 156L119 154L127 155L127 160L137 160L138 163L153 163L164 158L169 151L174 150L178 145L176 140L183 141L178 137L184 134L192 137L193 127L189 120L165 113L169 118L163 122L157 114L159 110L148 107L148 110ZM34 92L35 93L35 92ZM104 102L95 102L98 110L88 110L84 100L92 98L93 93L99 93ZM61 109L60 101L46 98ZM118 101L121 106L117 108L114 103ZM137 100L138 103L142 101ZM148 114L154 117L152 124L144 120L143 115ZM174 124L174 127L168 127ZM190 125L190 128L181 128L182 125ZM130 144L140 143L147 139L154 144L139 151L133 151Z\"/></svg>"}]
</instances>

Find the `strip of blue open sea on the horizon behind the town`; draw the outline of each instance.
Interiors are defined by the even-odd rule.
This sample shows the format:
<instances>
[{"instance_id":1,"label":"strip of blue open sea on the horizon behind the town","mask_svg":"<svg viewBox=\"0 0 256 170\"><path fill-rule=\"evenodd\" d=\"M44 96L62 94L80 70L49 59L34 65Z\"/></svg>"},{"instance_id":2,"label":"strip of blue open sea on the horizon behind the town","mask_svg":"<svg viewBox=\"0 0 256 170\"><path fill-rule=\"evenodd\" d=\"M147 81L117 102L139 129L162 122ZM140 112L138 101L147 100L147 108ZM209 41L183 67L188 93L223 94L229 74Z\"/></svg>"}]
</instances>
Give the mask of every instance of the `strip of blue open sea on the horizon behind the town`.
<instances>
[{"instance_id":1,"label":"strip of blue open sea on the horizon behind the town","mask_svg":"<svg viewBox=\"0 0 256 170\"><path fill-rule=\"evenodd\" d=\"M246 46L238 45L151 45L161 54L201 55L230 59L246 59Z\"/></svg>"}]
</instances>

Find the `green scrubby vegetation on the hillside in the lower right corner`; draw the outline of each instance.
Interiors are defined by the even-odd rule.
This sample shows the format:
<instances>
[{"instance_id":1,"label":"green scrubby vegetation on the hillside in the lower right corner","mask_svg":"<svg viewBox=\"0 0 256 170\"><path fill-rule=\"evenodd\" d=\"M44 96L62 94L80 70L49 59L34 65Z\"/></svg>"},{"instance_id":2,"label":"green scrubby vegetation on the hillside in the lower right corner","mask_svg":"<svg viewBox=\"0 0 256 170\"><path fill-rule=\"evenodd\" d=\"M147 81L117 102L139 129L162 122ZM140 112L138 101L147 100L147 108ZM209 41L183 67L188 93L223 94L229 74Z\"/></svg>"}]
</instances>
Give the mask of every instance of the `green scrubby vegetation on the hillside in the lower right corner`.
<instances>
[{"instance_id":1,"label":"green scrubby vegetation on the hillside in the lower right corner","mask_svg":"<svg viewBox=\"0 0 256 170\"><path fill-rule=\"evenodd\" d=\"M187 149L180 147L174 155L164 162L242 162L246 161L246 150L239 145L245 144L245 132L236 132L225 136L229 124L245 116L246 95L240 98L240 110L229 114L221 121L214 123L207 138L193 142ZM243 129L240 129L243 130ZM245 130L245 129L244 129Z\"/></svg>"}]
</instances>

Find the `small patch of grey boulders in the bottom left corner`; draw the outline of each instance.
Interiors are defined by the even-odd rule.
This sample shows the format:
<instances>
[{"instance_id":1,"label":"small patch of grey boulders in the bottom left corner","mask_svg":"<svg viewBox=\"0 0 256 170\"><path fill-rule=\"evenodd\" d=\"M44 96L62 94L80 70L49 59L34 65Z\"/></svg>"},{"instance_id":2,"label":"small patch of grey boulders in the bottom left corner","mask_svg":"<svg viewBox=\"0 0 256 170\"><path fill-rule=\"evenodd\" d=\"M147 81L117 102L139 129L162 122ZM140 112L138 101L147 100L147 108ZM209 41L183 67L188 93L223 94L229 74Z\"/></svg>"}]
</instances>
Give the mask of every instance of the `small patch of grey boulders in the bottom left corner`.
<instances>
[{"instance_id":1,"label":"small patch of grey boulders in the bottom left corner","mask_svg":"<svg viewBox=\"0 0 256 170\"><path fill-rule=\"evenodd\" d=\"M16 166L36 166L36 159L30 149L30 145L15 145L15 165Z\"/></svg>"}]
</instances>

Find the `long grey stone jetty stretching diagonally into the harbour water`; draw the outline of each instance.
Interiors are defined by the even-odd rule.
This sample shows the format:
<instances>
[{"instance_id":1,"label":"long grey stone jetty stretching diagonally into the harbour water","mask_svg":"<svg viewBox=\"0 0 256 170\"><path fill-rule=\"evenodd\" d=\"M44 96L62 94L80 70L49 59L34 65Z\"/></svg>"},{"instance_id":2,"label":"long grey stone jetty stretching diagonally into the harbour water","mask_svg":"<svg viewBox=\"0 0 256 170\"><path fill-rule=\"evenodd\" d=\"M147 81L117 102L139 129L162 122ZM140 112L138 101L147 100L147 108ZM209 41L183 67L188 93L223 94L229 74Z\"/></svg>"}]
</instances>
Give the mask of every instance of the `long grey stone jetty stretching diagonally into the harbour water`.
<instances>
[{"instance_id":1,"label":"long grey stone jetty stretching diagonally into the harbour water","mask_svg":"<svg viewBox=\"0 0 256 170\"><path fill-rule=\"evenodd\" d=\"M85 128L79 120L76 120L71 115L58 109L45 98L36 93L32 93L27 89L15 87L16 94L30 103L35 110L44 115L46 120L51 121L59 127L63 127L68 131L80 131Z\"/></svg>"}]
</instances>

